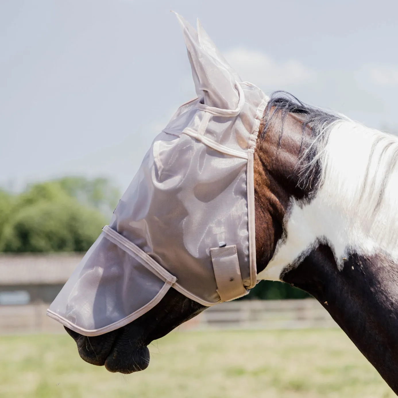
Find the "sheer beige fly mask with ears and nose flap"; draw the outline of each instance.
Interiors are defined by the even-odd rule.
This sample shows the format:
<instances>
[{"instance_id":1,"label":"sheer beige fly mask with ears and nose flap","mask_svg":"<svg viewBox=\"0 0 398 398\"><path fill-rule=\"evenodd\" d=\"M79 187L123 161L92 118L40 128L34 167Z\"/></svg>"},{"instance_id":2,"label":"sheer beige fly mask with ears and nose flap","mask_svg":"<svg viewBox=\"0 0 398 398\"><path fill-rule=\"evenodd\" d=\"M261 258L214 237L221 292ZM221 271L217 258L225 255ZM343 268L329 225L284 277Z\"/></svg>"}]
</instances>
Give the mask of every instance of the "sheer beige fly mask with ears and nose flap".
<instances>
[{"instance_id":1,"label":"sheer beige fly mask with ears and nose flap","mask_svg":"<svg viewBox=\"0 0 398 398\"><path fill-rule=\"evenodd\" d=\"M183 28L198 98L158 135L47 314L85 336L138 318L171 287L211 306L256 285L253 153L267 97L198 21Z\"/></svg>"}]
</instances>

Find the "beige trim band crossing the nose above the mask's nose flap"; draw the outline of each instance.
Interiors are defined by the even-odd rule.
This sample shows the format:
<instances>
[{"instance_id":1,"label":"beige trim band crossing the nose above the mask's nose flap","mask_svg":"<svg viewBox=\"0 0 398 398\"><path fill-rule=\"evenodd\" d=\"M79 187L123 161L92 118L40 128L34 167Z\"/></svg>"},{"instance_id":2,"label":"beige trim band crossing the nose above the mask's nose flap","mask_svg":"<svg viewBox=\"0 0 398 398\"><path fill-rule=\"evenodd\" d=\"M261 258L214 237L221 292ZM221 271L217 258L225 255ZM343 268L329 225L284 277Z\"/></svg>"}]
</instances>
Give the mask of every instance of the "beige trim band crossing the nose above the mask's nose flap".
<instances>
[{"instance_id":1,"label":"beige trim band crossing the nose above the mask's nose flap","mask_svg":"<svg viewBox=\"0 0 398 398\"><path fill-rule=\"evenodd\" d=\"M124 250L127 254L130 254L130 256L134 257L144 265L144 267L148 268L158 278L162 279L162 281L165 281L168 285L174 285L174 283L176 283L177 278L174 275L166 271L166 269L158 264L152 257L148 256L148 254L123 235L113 230L109 225L105 225L102 228L102 232L104 232L105 238L119 246L119 248Z\"/></svg>"}]
</instances>

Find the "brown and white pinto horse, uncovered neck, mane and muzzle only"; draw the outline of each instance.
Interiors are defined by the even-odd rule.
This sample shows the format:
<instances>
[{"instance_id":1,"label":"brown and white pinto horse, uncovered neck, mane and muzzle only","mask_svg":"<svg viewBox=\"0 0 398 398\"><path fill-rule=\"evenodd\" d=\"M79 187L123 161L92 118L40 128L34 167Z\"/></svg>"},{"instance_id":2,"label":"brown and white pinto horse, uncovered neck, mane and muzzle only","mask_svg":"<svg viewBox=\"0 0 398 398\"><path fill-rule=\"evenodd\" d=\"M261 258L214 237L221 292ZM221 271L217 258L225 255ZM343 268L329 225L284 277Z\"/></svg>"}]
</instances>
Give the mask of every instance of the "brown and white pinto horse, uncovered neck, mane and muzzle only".
<instances>
[{"instance_id":1,"label":"brown and white pinto horse, uncovered neck, mane and muzzle only","mask_svg":"<svg viewBox=\"0 0 398 398\"><path fill-rule=\"evenodd\" d=\"M398 139L286 92L268 98L257 133L257 279L315 297L398 394ZM128 374L146 369L151 341L206 308L171 288L115 330L65 329L84 361Z\"/></svg>"}]
</instances>

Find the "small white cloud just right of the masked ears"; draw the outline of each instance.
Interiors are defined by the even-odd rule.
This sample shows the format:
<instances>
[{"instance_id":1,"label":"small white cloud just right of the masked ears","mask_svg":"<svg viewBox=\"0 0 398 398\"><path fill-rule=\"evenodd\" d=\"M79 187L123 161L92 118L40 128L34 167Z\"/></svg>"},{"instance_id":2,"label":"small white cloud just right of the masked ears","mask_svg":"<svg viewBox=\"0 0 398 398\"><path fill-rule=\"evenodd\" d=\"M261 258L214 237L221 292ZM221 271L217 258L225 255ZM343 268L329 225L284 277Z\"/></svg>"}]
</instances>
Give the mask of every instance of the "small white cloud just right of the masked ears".
<instances>
[{"instance_id":1,"label":"small white cloud just right of the masked ears","mask_svg":"<svg viewBox=\"0 0 398 398\"><path fill-rule=\"evenodd\" d=\"M227 51L225 58L243 80L267 88L304 84L315 74L298 60L278 62L261 51L242 47Z\"/></svg>"}]
</instances>

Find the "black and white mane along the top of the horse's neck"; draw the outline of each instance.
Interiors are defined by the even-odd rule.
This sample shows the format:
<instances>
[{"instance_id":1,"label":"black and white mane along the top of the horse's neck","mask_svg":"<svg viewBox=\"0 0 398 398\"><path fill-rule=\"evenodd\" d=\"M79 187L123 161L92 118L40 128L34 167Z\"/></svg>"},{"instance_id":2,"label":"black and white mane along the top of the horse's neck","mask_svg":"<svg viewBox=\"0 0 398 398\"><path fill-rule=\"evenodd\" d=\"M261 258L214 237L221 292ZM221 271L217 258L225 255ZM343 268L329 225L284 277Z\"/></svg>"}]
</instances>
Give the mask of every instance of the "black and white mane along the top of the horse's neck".
<instances>
[{"instance_id":1,"label":"black and white mane along the top of the horse's neck","mask_svg":"<svg viewBox=\"0 0 398 398\"><path fill-rule=\"evenodd\" d=\"M287 92L276 91L271 94L265 109L265 123L263 123L264 128L261 131L260 139L265 137L269 125L273 122L273 119L278 117L281 120L278 143L278 146L280 146L283 124L289 113L300 114L300 119L303 120L302 140L296 170L299 176L298 184L308 190L310 197L316 195L322 184L324 178L322 168L326 167L326 147L330 133L334 128L340 131L342 146L346 144L346 140L353 131L359 132L359 137L363 137L363 139L359 138L359 141L363 140L369 143L365 148L361 146L361 142L358 142L351 149L353 162L355 162L355 156L362 159L364 156L367 157L364 162L367 166L364 167L363 175L360 177L362 180L361 187L357 188L356 203L352 203L352 206L355 208L366 203L367 210L370 211L367 217L373 218L372 216L375 216L380 209L390 179L393 175L398 176L397 137L365 127L344 115L307 105ZM309 140L304 139L304 131L307 127L310 128ZM340 160L337 158L332 160L332 162L336 161L339 162ZM350 169L347 168L346 173L349 172ZM345 179L344 175L339 176L339 181L336 181L336 184L343 183L342 179Z\"/></svg>"}]
</instances>

